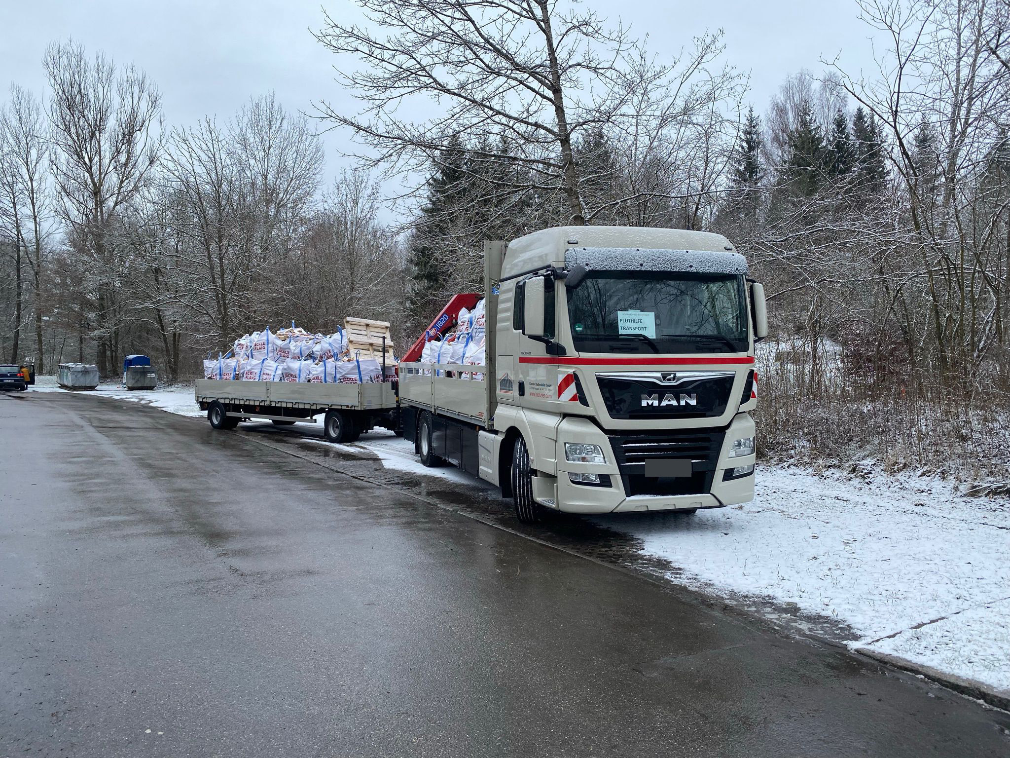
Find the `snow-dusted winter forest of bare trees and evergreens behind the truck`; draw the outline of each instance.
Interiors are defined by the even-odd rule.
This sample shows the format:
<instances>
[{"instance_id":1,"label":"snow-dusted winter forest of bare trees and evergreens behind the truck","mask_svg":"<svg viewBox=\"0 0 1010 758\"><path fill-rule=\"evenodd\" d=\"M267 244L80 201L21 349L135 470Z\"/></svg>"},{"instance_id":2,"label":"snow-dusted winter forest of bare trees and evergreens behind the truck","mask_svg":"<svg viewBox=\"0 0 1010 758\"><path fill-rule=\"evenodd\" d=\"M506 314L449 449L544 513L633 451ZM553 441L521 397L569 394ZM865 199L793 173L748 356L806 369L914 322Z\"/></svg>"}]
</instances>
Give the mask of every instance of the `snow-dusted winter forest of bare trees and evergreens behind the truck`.
<instances>
[{"instance_id":1,"label":"snow-dusted winter forest of bare trees and evergreens behind the truck","mask_svg":"<svg viewBox=\"0 0 1010 758\"><path fill-rule=\"evenodd\" d=\"M486 240L711 230L769 296L763 455L1010 487L1005 2L852 0L877 69L811 61L768 103L720 30L659 55L591 3L355 5L306 40L355 111L254 93L173 124L142 61L52 42L45 91L0 98L0 360L182 382L346 314L404 345L480 288ZM324 184L329 128L354 168Z\"/></svg>"}]
</instances>

